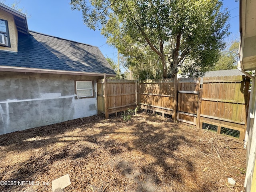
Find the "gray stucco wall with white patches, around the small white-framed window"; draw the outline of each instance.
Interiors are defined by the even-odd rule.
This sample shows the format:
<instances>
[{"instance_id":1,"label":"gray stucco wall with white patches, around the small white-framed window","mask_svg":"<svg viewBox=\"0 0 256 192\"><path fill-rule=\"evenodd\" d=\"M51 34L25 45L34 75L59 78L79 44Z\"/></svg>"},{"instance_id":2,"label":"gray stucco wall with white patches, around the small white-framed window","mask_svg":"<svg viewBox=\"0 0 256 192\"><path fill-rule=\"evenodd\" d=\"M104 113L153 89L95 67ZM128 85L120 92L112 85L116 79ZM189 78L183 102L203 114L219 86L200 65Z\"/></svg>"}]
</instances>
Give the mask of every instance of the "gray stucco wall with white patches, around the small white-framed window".
<instances>
[{"instance_id":1,"label":"gray stucco wall with white patches, around the small white-framed window","mask_svg":"<svg viewBox=\"0 0 256 192\"><path fill-rule=\"evenodd\" d=\"M76 98L75 80L93 80L94 97ZM97 114L97 77L0 73L0 134Z\"/></svg>"}]
</instances>

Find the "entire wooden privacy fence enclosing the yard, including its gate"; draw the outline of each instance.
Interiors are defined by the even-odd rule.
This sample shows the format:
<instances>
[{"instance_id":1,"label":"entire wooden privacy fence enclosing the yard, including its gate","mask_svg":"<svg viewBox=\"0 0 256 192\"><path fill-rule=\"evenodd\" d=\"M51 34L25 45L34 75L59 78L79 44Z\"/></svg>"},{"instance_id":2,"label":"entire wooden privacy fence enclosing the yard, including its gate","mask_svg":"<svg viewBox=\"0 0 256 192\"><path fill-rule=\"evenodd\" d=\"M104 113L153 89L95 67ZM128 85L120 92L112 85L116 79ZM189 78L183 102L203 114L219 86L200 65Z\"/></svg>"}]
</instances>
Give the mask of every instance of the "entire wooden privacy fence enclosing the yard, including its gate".
<instances>
[{"instance_id":1,"label":"entire wooden privacy fence enclosing the yard, including its gate","mask_svg":"<svg viewBox=\"0 0 256 192\"><path fill-rule=\"evenodd\" d=\"M250 78L246 76L144 80L98 80L98 112L134 109L172 115L174 121L244 139ZM138 93L137 93L138 91ZM137 99L138 98L138 99Z\"/></svg>"}]
</instances>

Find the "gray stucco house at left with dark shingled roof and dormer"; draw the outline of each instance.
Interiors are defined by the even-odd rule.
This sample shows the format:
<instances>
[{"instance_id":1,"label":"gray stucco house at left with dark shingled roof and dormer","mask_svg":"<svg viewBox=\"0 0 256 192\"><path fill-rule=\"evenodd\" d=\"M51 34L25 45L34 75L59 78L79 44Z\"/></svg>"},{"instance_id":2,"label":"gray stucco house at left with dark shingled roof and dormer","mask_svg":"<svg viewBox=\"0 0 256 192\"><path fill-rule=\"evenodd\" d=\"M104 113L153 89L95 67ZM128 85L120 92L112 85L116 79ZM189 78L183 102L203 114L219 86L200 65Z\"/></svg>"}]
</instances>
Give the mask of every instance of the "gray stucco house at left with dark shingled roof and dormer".
<instances>
[{"instance_id":1,"label":"gray stucco house at left with dark shingled roof and dormer","mask_svg":"<svg viewBox=\"0 0 256 192\"><path fill-rule=\"evenodd\" d=\"M104 73L115 76L98 47L30 31L0 3L0 134L97 114Z\"/></svg>"}]
</instances>

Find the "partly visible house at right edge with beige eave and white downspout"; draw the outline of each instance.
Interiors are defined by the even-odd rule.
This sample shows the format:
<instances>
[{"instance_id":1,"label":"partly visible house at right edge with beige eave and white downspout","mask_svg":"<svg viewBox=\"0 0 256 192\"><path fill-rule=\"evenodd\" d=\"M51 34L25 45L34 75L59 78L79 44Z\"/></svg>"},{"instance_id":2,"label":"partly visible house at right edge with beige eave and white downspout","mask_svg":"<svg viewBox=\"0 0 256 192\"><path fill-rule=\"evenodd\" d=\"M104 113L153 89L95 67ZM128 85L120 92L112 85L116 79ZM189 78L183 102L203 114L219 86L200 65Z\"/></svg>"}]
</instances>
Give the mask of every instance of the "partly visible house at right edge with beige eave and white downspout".
<instances>
[{"instance_id":1,"label":"partly visible house at right edge with beige eave and white downspout","mask_svg":"<svg viewBox=\"0 0 256 192\"><path fill-rule=\"evenodd\" d=\"M256 0L240 0L240 61L238 69L246 74L256 70ZM250 76L250 75L248 75ZM246 192L256 192L256 84L252 79L249 112L244 145L247 149Z\"/></svg>"}]
</instances>

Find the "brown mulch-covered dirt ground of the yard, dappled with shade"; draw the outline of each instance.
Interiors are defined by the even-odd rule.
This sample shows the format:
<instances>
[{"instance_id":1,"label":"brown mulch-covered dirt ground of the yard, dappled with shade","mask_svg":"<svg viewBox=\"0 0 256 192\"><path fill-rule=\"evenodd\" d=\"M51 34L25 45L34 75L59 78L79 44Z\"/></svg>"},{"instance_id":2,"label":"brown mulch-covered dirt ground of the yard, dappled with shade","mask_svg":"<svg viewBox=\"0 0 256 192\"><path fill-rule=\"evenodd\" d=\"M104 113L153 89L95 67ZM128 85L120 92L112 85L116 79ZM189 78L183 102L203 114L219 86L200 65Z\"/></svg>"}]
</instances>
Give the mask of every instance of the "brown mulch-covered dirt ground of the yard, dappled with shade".
<instances>
[{"instance_id":1,"label":"brown mulch-covered dirt ground of the yard, dappled with shade","mask_svg":"<svg viewBox=\"0 0 256 192\"><path fill-rule=\"evenodd\" d=\"M52 180L65 174L69 192L240 192L245 169L242 141L146 113L0 136L0 180L37 182L1 192L50 192Z\"/></svg>"}]
</instances>

